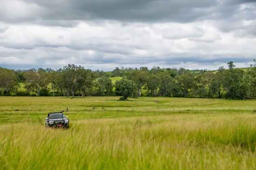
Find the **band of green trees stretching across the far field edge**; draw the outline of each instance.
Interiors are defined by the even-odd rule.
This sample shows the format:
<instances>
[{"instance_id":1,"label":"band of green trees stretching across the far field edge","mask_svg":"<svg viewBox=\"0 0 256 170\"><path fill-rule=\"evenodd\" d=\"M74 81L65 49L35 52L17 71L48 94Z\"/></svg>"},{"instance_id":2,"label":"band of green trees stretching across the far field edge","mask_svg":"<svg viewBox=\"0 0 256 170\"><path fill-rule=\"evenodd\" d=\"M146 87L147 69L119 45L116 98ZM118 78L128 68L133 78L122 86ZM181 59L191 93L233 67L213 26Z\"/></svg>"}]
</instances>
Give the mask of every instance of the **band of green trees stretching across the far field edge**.
<instances>
[{"instance_id":1,"label":"band of green trees stretching across the far field edge","mask_svg":"<svg viewBox=\"0 0 256 170\"><path fill-rule=\"evenodd\" d=\"M0 95L5 96L169 96L193 98L256 98L256 61L247 68L217 71L185 68L121 68L112 72L91 71L68 64L51 68L12 70L0 67ZM115 84L110 77L122 77ZM23 89L23 90L20 90ZM144 93L142 93L142 91Z\"/></svg>"}]
</instances>

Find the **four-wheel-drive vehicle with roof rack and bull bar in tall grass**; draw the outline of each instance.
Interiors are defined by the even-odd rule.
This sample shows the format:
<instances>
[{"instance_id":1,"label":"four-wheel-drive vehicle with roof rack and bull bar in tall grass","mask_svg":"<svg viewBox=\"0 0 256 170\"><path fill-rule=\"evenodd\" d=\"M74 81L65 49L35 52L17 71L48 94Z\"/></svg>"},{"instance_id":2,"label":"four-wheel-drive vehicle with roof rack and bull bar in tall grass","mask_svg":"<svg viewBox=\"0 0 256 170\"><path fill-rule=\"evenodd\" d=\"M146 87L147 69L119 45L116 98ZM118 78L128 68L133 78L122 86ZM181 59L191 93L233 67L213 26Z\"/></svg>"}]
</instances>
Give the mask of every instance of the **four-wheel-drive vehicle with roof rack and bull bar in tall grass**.
<instances>
[{"instance_id":1,"label":"four-wheel-drive vehicle with roof rack and bull bar in tall grass","mask_svg":"<svg viewBox=\"0 0 256 170\"><path fill-rule=\"evenodd\" d=\"M47 118L45 118L45 127L69 128L69 119L63 112L48 113Z\"/></svg>"}]
</instances>

